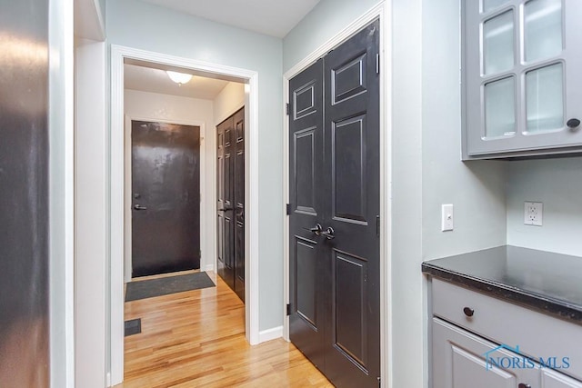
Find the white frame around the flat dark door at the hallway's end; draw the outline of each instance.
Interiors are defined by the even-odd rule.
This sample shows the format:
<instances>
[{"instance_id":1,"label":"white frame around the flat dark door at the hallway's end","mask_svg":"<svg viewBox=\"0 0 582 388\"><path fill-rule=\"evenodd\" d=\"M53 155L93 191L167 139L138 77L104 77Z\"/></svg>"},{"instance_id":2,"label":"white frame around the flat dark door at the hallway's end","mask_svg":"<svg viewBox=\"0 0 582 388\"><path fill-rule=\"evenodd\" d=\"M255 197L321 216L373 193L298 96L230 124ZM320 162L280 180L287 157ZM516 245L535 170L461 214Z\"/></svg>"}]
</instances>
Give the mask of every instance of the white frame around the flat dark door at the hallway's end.
<instances>
[{"instance_id":1,"label":"white frame around the flat dark door at the hallway's end","mask_svg":"<svg viewBox=\"0 0 582 388\"><path fill-rule=\"evenodd\" d=\"M208 257L208 254L212 251L207 250L207 240L212 240L211 235L208 235L207 229L212 229L212 226L207 226L206 223L209 221L206 217L205 209L208 209L210 203L206 198L206 190L204 190L204 184L206 183L206 123L204 121L196 120L171 120L171 119L159 119L152 116L139 116L139 115L125 115L125 257L124 257L124 281L125 283L131 282L132 271L133 271L133 261L132 261L132 219L131 219L131 204L133 198L131 197L131 183L132 183L132 170L131 170L131 122L132 121L146 121L150 123L165 123L165 124L178 124L178 125L188 125L197 126L200 128L199 137L199 156L200 156L200 270L201 271L215 271L216 265L212 264L216 262ZM208 225L212 223L208 222Z\"/></svg>"}]
</instances>

